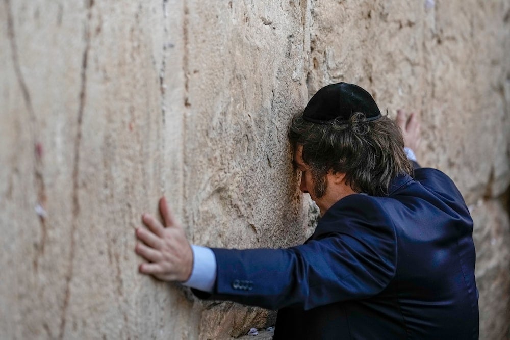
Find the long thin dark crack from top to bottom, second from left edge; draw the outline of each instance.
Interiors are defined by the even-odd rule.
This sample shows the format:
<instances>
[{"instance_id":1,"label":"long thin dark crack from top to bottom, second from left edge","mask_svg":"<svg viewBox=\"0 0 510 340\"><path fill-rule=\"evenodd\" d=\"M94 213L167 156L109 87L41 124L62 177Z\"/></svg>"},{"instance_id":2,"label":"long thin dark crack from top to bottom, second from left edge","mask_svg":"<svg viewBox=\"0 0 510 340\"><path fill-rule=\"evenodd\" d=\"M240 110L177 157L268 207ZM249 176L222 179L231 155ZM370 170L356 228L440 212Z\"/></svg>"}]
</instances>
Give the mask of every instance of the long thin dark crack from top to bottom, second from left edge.
<instances>
[{"instance_id":1,"label":"long thin dark crack from top to bottom, second from left edge","mask_svg":"<svg viewBox=\"0 0 510 340\"><path fill-rule=\"evenodd\" d=\"M74 161L73 161L73 171L72 171L72 223L71 223L71 245L70 245L70 253L69 253L69 268L67 271L67 275L65 277L65 293L64 293L64 305L62 307L62 315L60 322L60 332L59 339L63 339L64 331L66 326L66 313L67 308L69 306L70 299L70 284L73 276L73 265L74 265L74 255L75 255L75 233L78 227L78 215L80 213L80 201L78 198L78 189L79 189L79 165L80 165L80 146L82 140L82 121L83 121L83 112L85 108L85 99L86 99L86 84L87 84L87 63L88 63L88 54L90 49L90 27L89 22L92 16L91 8L94 5L93 0L86 0L85 6L88 10L87 19L85 23L85 48L82 55L82 69L81 69L81 84L80 84L80 93L79 93L79 106L78 106L78 118L77 118L77 131L76 137L74 140Z\"/></svg>"}]
</instances>

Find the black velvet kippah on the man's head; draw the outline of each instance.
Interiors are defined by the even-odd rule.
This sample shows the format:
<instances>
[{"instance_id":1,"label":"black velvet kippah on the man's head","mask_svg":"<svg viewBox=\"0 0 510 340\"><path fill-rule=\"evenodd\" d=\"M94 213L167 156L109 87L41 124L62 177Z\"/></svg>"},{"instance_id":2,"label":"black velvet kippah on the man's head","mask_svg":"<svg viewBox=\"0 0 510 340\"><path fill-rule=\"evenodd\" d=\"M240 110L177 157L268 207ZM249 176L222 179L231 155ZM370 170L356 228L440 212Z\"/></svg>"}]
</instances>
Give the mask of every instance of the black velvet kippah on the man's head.
<instances>
[{"instance_id":1,"label":"black velvet kippah on the man's head","mask_svg":"<svg viewBox=\"0 0 510 340\"><path fill-rule=\"evenodd\" d=\"M370 93L358 85L337 83L324 86L314 94L304 109L303 119L318 124L337 119L339 124L344 124L358 112L365 114L365 121L381 117Z\"/></svg>"}]
</instances>

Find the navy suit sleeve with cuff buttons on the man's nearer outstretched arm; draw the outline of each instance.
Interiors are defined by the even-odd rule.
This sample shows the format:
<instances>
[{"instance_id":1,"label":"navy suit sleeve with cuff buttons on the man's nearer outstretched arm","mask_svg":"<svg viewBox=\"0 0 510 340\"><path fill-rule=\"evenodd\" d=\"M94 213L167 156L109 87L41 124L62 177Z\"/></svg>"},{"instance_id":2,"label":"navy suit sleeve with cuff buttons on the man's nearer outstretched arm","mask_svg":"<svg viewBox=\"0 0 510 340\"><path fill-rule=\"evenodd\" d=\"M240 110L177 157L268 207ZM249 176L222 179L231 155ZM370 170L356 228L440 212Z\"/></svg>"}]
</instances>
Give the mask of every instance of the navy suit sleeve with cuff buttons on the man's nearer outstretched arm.
<instances>
[{"instance_id":1,"label":"navy suit sleeve with cuff buttons on the man's nearer outstretched arm","mask_svg":"<svg viewBox=\"0 0 510 340\"><path fill-rule=\"evenodd\" d=\"M213 249L214 293L195 293L268 309L299 305L305 310L376 295L395 275L394 229L351 215L355 218L344 216L341 223L333 216L314 239L288 249Z\"/></svg>"}]
</instances>

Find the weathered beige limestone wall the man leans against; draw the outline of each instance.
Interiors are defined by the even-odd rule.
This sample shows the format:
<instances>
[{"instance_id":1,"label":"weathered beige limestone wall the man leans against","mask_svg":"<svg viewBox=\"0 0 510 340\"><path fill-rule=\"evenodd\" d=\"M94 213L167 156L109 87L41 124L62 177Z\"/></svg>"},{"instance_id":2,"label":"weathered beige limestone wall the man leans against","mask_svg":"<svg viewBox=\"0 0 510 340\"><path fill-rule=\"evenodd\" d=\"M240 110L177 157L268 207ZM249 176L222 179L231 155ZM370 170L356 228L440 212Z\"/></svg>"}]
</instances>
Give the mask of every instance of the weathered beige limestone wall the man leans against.
<instances>
[{"instance_id":1,"label":"weathered beige limestone wall the man leans against","mask_svg":"<svg viewBox=\"0 0 510 340\"><path fill-rule=\"evenodd\" d=\"M475 220L480 338L510 336L510 3L0 5L0 337L228 339L274 314L137 274L165 194L192 242L301 243L287 124L321 86L420 113ZM315 212L315 213L314 213Z\"/></svg>"}]
</instances>

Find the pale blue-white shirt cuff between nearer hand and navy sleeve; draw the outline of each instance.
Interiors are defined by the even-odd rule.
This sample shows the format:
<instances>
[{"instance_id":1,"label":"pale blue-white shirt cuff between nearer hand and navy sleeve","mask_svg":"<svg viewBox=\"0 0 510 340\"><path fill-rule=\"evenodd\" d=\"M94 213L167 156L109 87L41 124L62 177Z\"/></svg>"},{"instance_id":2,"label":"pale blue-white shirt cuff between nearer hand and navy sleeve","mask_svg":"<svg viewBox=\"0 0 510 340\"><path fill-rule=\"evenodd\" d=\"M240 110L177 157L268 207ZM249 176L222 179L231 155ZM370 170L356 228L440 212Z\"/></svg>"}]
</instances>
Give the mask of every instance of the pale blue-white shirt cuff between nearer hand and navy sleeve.
<instances>
[{"instance_id":1,"label":"pale blue-white shirt cuff between nearer hand and navy sleeve","mask_svg":"<svg viewBox=\"0 0 510 340\"><path fill-rule=\"evenodd\" d=\"M183 285L203 292L212 293L216 282L216 256L207 247L191 245L193 269L188 281Z\"/></svg>"}]
</instances>

